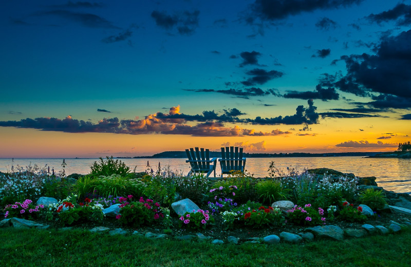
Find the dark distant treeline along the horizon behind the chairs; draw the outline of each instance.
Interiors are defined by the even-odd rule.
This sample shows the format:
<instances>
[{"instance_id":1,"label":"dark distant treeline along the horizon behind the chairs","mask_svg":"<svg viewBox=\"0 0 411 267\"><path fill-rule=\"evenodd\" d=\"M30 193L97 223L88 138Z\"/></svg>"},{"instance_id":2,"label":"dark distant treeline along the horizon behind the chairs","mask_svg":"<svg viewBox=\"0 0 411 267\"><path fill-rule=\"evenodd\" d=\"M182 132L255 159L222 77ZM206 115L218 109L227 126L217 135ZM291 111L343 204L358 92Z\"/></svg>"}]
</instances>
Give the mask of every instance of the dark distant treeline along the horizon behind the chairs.
<instances>
[{"instance_id":1,"label":"dark distant treeline along the horizon behind the chairs","mask_svg":"<svg viewBox=\"0 0 411 267\"><path fill-rule=\"evenodd\" d=\"M381 152L339 152L339 153L244 153L245 158L284 158L284 157L349 157L349 156L375 156ZM152 158L186 158L185 151L164 151L153 156L134 157L134 159L152 159ZM220 151L210 151L211 158L220 158ZM124 158L124 157L118 157ZM131 158L131 157L127 157Z\"/></svg>"}]
</instances>

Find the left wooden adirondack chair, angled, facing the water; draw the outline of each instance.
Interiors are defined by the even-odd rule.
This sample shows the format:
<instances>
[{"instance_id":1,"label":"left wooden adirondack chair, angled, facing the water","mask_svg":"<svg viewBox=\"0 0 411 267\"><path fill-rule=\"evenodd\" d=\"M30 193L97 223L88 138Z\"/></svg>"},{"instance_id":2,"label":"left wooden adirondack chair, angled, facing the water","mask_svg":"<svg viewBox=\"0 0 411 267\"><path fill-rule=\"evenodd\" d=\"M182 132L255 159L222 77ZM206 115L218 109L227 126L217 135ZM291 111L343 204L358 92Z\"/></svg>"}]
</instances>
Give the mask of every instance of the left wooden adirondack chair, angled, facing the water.
<instances>
[{"instance_id":1,"label":"left wooden adirondack chair, angled, facing the water","mask_svg":"<svg viewBox=\"0 0 411 267\"><path fill-rule=\"evenodd\" d=\"M209 149L204 150L204 148L198 149L198 147L196 147L195 151L194 148L190 148L190 150L185 149L185 152L187 154L187 158L189 158L185 162L190 162L191 171L193 171L194 173L207 173L207 177L209 177L210 174L214 171L215 177L217 158L210 159Z\"/></svg>"}]
</instances>

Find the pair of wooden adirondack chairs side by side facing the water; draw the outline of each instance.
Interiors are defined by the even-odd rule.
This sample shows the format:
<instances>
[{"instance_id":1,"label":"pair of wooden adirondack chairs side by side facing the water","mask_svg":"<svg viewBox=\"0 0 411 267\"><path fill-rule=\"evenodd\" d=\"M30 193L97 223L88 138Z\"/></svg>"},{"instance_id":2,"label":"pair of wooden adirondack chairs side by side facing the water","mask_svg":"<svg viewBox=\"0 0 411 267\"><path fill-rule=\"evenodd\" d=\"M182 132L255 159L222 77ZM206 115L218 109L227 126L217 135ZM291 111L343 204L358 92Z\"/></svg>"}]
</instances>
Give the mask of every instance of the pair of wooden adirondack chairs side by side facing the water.
<instances>
[{"instance_id":1,"label":"pair of wooden adirondack chairs side by side facing the water","mask_svg":"<svg viewBox=\"0 0 411 267\"><path fill-rule=\"evenodd\" d=\"M190 162L191 171L194 173L204 173L207 177L214 171L217 158L210 159L210 150L204 148L190 148L185 149L187 157L189 158L185 162ZM224 174L230 174L231 171L241 171L244 173L246 166L246 158L242 157L242 147L221 147L221 158L218 159L221 167L221 177Z\"/></svg>"}]
</instances>

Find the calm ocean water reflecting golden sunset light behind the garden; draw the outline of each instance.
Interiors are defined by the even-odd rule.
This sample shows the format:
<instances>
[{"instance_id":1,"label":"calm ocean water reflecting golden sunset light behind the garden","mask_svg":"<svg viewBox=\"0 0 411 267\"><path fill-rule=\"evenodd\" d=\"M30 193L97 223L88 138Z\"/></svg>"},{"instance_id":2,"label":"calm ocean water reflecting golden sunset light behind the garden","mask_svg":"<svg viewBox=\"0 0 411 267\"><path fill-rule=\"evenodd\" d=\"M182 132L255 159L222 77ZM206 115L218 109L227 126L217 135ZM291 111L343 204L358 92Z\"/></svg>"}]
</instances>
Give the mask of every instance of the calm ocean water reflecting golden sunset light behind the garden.
<instances>
[{"instance_id":1,"label":"calm ocean water reflecting golden sunset light behind the garden","mask_svg":"<svg viewBox=\"0 0 411 267\"><path fill-rule=\"evenodd\" d=\"M90 171L90 165L98 159L66 159L66 174L78 173L87 174ZM153 169L157 169L160 162L162 167L170 165L172 170L181 170L187 174L190 165L185 163L186 159L121 159L127 166L134 168L136 171L146 169L147 160ZM381 159L381 158L363 158L363 157L324 157L324 158L248 158L246 169L254 177L266 177L270 162L274 161L275 166L281 169L287 167L295 168L302 171L304 168L331 168L342 171L343 173L353 173L356 176L377 177L379 186L395 192L411 194L411 159ZM37 164L41 167L46 164L50 170L62 170L63 159L14 159L14 165L27 166ZM218 162L217 162L218 164ZM0 159L0 171L10 169L11 159ZM217 165L217 176L220 173L220 166Z\"/></svg>"}]
</instances>

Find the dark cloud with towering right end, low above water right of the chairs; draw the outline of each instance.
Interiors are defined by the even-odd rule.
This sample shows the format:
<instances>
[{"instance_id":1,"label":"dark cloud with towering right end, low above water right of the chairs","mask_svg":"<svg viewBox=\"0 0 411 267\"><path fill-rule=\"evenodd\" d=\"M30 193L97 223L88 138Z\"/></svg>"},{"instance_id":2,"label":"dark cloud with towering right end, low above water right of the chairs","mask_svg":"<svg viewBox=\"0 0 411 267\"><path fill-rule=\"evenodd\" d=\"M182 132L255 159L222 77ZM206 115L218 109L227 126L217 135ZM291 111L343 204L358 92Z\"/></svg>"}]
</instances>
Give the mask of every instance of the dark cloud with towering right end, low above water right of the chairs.
<instances>
[{"instance_id":1,"label":"dark cloud with towering right end, low above water right of the chairs","mask_svg":"<svg viewBox=\"0 0 411 267\"><path fill-rule=\"evenodd\" d=\"M275 124L315 124L318 123L319 114L316 112L317 107L315 107L312 100L308 100L308 107L305 108L303 105L296 108L295 115L292 116L278 116L275 118L261 118L256 117L255 119L246 119L245 122L251 124L260 125L275 125Z\"/></svg>"}]
</instances>

